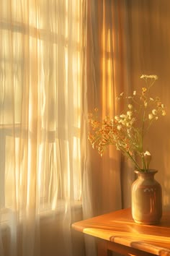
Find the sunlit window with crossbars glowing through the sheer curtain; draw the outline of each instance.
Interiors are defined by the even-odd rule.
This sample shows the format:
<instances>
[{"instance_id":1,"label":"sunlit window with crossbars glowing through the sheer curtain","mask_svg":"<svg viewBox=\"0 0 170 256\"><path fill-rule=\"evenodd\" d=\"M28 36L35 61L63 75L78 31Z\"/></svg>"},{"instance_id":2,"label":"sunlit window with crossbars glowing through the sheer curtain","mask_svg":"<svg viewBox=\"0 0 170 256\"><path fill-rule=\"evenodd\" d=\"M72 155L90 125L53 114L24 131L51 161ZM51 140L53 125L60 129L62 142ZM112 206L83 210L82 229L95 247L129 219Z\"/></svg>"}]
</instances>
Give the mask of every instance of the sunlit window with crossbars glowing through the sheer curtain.
<instances>
[{"instance_id":1,"label":"sunlit window with crossbars glowing through the sheer curtain","mask_svg":"<svg viewBox=\"0 0 170 256\"><path fill-rule=\"evenodd\" d=\"M3 2L0 21L0 200L24 209L35 189L40 212L81 199L82 9L19 3Z\"/></svg>"}]
</instances>

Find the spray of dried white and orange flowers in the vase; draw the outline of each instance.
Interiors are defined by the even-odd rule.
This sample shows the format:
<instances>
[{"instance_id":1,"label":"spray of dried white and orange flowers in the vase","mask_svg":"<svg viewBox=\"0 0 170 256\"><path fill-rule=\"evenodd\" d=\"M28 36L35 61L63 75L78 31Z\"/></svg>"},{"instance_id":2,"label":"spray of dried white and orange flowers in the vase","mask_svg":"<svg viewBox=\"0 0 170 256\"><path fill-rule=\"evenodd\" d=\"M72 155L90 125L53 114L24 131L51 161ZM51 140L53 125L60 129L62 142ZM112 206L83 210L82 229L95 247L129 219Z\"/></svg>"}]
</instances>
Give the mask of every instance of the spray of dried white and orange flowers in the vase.
<instances>
[{"instance_id":1,"label":"spray of dried white and orange flowers in the vase","mask_svg":"<svg viewBox=\"0 0 170 256\"><path fill-rule=\"evenodd\" d=\"M95 114L89 114L89 141L93 148L97 148L100 155L108 145L115 145L117 150L130 158L138 171L148 171L151 162L151 153L144 150L144 137L154 121L166 115L166 109L160 98L152 98L150 90L157 75L143 74L141 77L146 82L140 93L133 91L132 96L120 93L117 100L128 101L125 111L117 114L113 119L109 116L102 121ZM140 163L136 159L140 158Z\"/></svg>"}]
</instances>

